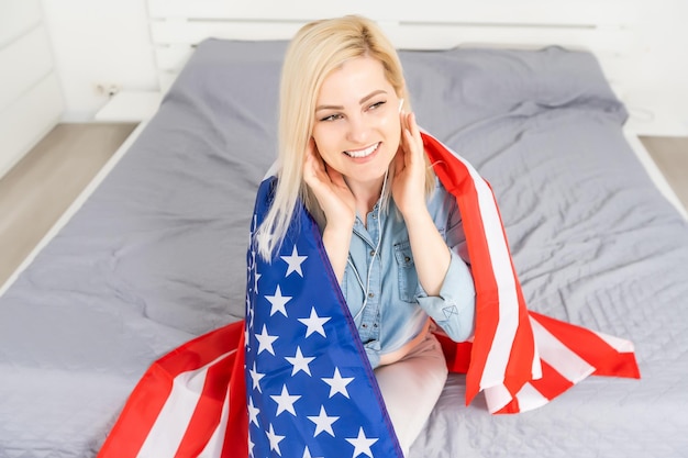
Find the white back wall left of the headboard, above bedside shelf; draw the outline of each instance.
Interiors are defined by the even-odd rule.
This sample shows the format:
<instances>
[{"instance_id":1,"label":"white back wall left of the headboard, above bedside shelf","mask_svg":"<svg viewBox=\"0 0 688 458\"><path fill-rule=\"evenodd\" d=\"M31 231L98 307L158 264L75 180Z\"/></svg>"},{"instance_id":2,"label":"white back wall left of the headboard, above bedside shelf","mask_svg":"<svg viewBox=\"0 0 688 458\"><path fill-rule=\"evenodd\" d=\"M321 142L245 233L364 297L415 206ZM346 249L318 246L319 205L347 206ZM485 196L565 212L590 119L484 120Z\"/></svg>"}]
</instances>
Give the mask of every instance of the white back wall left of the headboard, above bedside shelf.
<instances>
[{"instance_id":1,"label":"white back wall left of the headboard, above bedside shelf","mask_svg":"<svg viewBox=\"0 0 688 458\"><path fill-rule=\"evenodd\" d=\"M42 0L66 99L65 122L91 121L98 85L157 89L144 0Z\"/></svg>"}]
</instances>

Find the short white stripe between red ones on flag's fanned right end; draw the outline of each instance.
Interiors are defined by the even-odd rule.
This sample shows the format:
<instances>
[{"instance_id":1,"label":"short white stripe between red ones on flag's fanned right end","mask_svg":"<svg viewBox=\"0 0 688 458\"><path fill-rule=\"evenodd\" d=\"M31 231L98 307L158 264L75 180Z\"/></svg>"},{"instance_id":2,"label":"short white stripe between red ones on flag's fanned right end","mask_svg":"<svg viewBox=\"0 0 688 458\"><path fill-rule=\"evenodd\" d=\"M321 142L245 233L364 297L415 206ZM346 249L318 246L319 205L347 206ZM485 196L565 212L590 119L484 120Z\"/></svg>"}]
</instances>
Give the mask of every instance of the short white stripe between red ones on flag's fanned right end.
<instances>
[{"instance_id":1,"label":"short white stripe between red ones on flag's fanned right end","mask_svg":"<svg viewBox=\"0 0 688 458\"><path fill-rule=\"evenodd\" d=\"M573 383L578 383L595 372L592 366L552 335L536 320L531 319L531 325L542 360L552 366L562 377Z\"/></svg>"}]
</instances>

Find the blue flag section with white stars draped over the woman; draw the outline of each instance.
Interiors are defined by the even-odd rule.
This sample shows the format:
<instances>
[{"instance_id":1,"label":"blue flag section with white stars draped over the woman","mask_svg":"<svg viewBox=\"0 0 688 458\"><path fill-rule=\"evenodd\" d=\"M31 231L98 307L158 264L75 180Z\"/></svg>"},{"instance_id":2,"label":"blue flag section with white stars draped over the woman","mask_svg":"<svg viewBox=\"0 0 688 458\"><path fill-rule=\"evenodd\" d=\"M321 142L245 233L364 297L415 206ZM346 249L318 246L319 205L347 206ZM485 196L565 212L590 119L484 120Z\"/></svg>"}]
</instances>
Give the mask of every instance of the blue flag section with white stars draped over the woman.
<instances>
[{"instance_id":1,"label":"blue flag section with white stars draped over the woman","mask_svg":"<svg viewBox=\"0 0 688 458\"><path fill-rule=\"evenodd\" d=\"M271 200L263 182L252 234ZM247 253L246 402L253 458L402 457L320 232L298 206L270 262Z\"/></svg>"}]
</instances>

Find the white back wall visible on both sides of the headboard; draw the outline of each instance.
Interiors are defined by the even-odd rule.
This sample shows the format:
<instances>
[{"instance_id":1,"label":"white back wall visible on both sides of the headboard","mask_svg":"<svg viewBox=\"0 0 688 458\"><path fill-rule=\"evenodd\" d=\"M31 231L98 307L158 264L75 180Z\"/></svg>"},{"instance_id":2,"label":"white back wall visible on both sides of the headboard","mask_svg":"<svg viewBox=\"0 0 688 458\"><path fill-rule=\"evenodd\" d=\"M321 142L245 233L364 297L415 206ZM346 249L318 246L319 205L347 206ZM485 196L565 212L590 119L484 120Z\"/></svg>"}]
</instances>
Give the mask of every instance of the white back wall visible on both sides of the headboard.
<instances>
[{"instance_id":1,"label":"white back wall visible on both sides of the headboard","mask_svg":"<svg viewBox=\"0 0 688 458\"><path fill-rule=\"evenodd\" d=\"M193 1L193 0L189 0ZM575 1L575 0L572 0ZM156 89L144 0L42 0L66 98L66 121L88 121L104 104L98 83ZM659 101L688 130L687 0L641 0L634 104ZM625 94L622 94L625 96Z\"/></svg>"}]
</instances>

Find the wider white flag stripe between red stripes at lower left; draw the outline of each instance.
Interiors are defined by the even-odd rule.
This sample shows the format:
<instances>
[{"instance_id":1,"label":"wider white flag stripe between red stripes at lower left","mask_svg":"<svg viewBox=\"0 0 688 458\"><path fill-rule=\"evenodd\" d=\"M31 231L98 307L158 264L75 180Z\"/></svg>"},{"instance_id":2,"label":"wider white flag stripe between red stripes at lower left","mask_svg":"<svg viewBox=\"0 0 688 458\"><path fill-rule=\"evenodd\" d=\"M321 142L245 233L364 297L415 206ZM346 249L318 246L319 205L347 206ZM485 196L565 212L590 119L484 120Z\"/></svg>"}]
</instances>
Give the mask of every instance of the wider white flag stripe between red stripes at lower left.
<instances>
[{"instance_id":1,"label":"wider white flag stripe between red stripes at lower left","mask_svg":"<svg viewBox=\"0 0 688 458\"><path fill-rule=\"evenodd\" d=\"M208 369L235 351L236 349L233 349L199 369L181 372L175 377L171 392L138 450L137 458L175 456L201 396Z\"/></svg>"}]
</instances>

